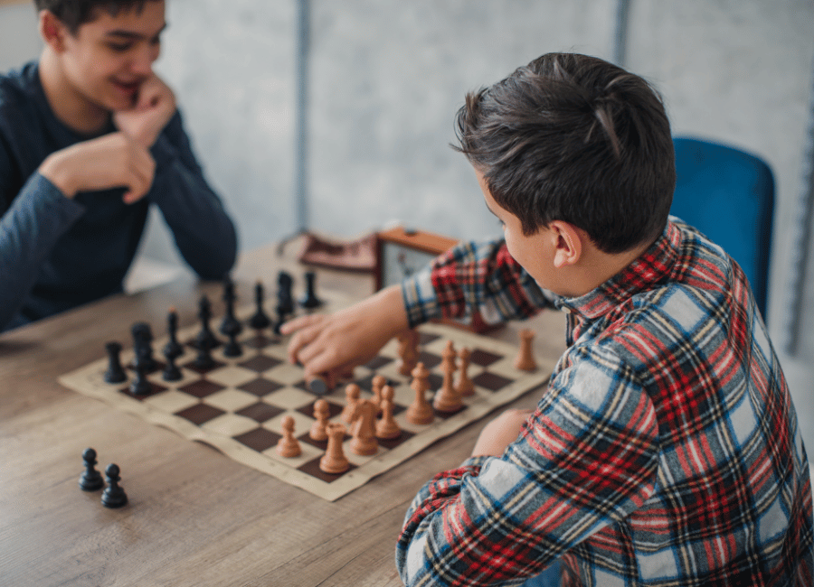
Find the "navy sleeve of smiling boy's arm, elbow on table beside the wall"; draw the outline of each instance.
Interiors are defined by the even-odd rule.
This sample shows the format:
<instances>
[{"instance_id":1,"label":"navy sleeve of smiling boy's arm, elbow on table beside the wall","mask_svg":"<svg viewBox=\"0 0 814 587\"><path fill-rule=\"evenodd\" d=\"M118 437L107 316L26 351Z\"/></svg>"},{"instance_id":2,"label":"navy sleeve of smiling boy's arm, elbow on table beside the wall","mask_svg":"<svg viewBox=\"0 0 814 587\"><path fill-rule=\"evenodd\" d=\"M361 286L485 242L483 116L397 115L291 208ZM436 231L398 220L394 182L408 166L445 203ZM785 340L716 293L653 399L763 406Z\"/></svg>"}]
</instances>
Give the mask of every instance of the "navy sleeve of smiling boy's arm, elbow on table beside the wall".
<instances>
[{"instance_id":1,"label":"navy sleeve of smiling boy's arm, elbow on table beside the wall","mask_svg":"<svg viewBox=\"0 0 814 587\"><path fill-rule=\"evenodd\" d=\"M175 246L195 273L204 279L221 279L234 265L237 232L204 178L180 113L159 135L152 154L156 177L149 198L161 210Z\"/></svg>"}]
</instances>

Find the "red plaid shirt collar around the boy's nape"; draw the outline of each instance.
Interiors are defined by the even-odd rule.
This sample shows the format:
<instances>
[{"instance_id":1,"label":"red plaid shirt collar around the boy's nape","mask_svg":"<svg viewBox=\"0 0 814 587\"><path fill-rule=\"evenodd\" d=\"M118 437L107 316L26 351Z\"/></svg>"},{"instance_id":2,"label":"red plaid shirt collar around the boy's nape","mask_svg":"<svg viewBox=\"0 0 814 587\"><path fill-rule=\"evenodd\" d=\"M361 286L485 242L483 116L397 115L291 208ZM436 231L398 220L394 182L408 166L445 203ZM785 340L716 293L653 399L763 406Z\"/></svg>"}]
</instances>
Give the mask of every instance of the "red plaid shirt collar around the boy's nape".
<instances>
[{"instance_id":1,"label":"red plaid shirt collar around the boy's nape","mask_svg":"<svg viewBox=\"0 0 814 587\"><path fill-rule=\"evenodd\" d=\"M667 279L677 264L681 239L681 231L668 221L661 236L629 266L591 292L573 298L560 297L555 305L563 312L591 320L611 312L636 293Z\"/></svg>"}]
</instances>

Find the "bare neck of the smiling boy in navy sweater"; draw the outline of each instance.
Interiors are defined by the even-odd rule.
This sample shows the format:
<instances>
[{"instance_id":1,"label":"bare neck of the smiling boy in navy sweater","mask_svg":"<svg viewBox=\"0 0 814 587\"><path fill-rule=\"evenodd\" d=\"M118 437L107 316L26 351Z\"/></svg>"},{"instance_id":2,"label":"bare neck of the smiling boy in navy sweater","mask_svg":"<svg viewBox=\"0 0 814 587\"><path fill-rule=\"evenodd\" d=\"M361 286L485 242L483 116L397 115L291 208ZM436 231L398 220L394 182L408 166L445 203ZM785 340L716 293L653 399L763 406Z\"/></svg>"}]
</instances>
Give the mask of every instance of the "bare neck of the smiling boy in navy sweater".
<instances>
[{"instance_id":1,"label":"bare neck of the smiling boy in navy sweater","mask_svg":"<svg viewBox=\"0 0 814 587\"><path fill-rule=\"evenodd\" d=\"M81 135L96 135L109 124L110 112L75 89L59 58L47 46L40 57L40 82L54 116Z\"/></svg>"}]
</instances>

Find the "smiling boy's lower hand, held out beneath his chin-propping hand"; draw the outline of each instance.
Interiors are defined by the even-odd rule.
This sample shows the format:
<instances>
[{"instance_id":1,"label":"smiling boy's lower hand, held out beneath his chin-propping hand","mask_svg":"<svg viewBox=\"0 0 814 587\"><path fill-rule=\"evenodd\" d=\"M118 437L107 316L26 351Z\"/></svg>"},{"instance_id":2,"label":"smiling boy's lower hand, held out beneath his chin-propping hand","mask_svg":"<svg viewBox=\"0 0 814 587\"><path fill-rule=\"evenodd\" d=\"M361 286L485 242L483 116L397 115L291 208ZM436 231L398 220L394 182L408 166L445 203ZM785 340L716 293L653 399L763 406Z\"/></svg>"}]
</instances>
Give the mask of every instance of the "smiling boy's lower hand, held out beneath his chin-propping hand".
<instances>
[{"instance_id":1,"label":"smiling boy's lower hand, held out beneath his chin-propping hand","mask_svg":"<svg viewBox=\"0 0 814 587\"><path fill-rule=\"evenodd\" d=\"M128 188L123 200L141 200L153 184L156 162L147 149L122 133L73 144L50 154L40 173L73 198L78 191Z\"/></svg>"}]
</instances>

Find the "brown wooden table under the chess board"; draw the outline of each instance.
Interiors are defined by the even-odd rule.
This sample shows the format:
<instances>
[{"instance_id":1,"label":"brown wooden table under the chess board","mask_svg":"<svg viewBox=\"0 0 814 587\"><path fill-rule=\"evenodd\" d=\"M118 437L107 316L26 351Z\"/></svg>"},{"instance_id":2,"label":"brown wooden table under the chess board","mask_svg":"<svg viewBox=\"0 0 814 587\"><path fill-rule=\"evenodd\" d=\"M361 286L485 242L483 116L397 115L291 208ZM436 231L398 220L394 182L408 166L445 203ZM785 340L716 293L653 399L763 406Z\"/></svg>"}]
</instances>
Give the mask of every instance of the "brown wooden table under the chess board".
<instances>
[{"instance_id":1,"label":"brown wooden table under the chess board","mask_svg":"<svg viewBox=\"0 0 814 587\"><path fill-rule=\"evenodd\" d=\"M234 277L245 292L258 277L276 283L280 268L303 271L263 247L241 258ZM321 271L317 284L362 296L373 281ZM174 305L181 326L193 324L202 292L221 287L186 278L0 335L0 584L402 584L393 561L404 512L421 484L469 455L483 422L327 502L57 383L103 357L104 343L123 340L134 321L163 332ZM538 357L559 357L563 314L524 326L538 332ZM516 340L516 328L495 336ZM513 405L535 405L531 395ZM87 447L100 468L121 467L127 507L103 508L99 492L78 488Z\"/></svg>"}]
</instances>

